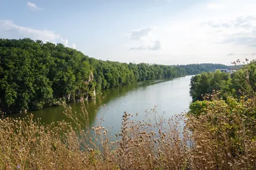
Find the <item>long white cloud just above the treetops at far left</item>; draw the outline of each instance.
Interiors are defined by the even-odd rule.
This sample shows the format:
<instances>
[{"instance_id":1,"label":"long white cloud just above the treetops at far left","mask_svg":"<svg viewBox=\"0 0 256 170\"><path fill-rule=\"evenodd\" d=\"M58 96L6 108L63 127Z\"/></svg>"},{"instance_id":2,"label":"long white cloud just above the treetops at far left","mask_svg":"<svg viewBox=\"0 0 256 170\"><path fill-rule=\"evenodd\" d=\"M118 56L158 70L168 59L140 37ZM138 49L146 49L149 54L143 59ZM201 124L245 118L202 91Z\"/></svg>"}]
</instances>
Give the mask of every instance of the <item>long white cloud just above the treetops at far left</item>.
<instances>
[{"instance_id":1,"label":"long white cloud just above the treetops at far left","mask_svg":"<svg viewBox=\"0 0 256 170\"><path fill-rule=\"evenodd\" d=\"M1 38L31 38L41 39L42 41L55 41L60 39L60 35L46 29L31 29L14 24L11 20L0 20Z\"/></svg>"}]
</instances>

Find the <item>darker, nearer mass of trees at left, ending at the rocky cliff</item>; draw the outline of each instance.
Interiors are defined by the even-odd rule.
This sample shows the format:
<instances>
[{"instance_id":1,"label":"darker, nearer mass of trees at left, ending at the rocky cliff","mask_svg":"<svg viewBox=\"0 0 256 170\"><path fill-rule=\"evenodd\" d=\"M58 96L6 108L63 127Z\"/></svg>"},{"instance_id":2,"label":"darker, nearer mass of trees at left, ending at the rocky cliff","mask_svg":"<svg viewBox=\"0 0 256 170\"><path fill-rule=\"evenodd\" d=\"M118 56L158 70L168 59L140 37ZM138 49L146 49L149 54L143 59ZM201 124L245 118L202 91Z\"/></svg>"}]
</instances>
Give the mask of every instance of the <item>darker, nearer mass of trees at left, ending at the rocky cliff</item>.
<instances>
[{"instance_id":1,"label":"darker, nearer mass of trees at left, ending at the rocky cliff","mask_svg":"<svg viewBox=\"0 0 256 170\"><path fill-rule=\"evenodd\" d=\"M88 57L77 50L31 39L0 39L0 57L0 104L6 113L88 95Z\"/></svg>"}]
</instances>

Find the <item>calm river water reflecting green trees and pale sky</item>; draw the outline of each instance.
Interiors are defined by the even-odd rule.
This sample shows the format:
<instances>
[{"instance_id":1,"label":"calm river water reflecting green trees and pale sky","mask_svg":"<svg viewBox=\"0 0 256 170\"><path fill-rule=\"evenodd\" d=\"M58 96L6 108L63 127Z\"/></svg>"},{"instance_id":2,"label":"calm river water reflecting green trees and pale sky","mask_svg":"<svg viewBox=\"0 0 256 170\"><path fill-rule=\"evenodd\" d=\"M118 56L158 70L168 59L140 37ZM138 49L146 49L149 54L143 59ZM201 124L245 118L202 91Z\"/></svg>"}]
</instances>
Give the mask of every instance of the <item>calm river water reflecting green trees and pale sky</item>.
<instances>
[{"instance_id":1,"label":"calm river water reflecting green trees and pale sky","mask_svg":"<svg viewBox=\"0 0 256 170\"><path fill-rule=\"evenodd\" d=\"M124 111L132 115L138 113L137 120L144 120L147 113L156 108L157 115L166 118L175 113L186 111L192 99L189 96L191 76L175 78L173 80L139 81L129 85L102 90L96 99L86 101L89 113L89 124L93 127L101 124L111 127L112 133L120 130ZM68 104L77 115L81 113L81 103ZM33 113L35 118L41 118L44 124L65 120L72 122L63 114L62 106L54 106L43 110L29 111L26 114L14 114L8 117L26 117ZM104 121L103 121L104 120Z\"/></svg>"}]
</instances>

